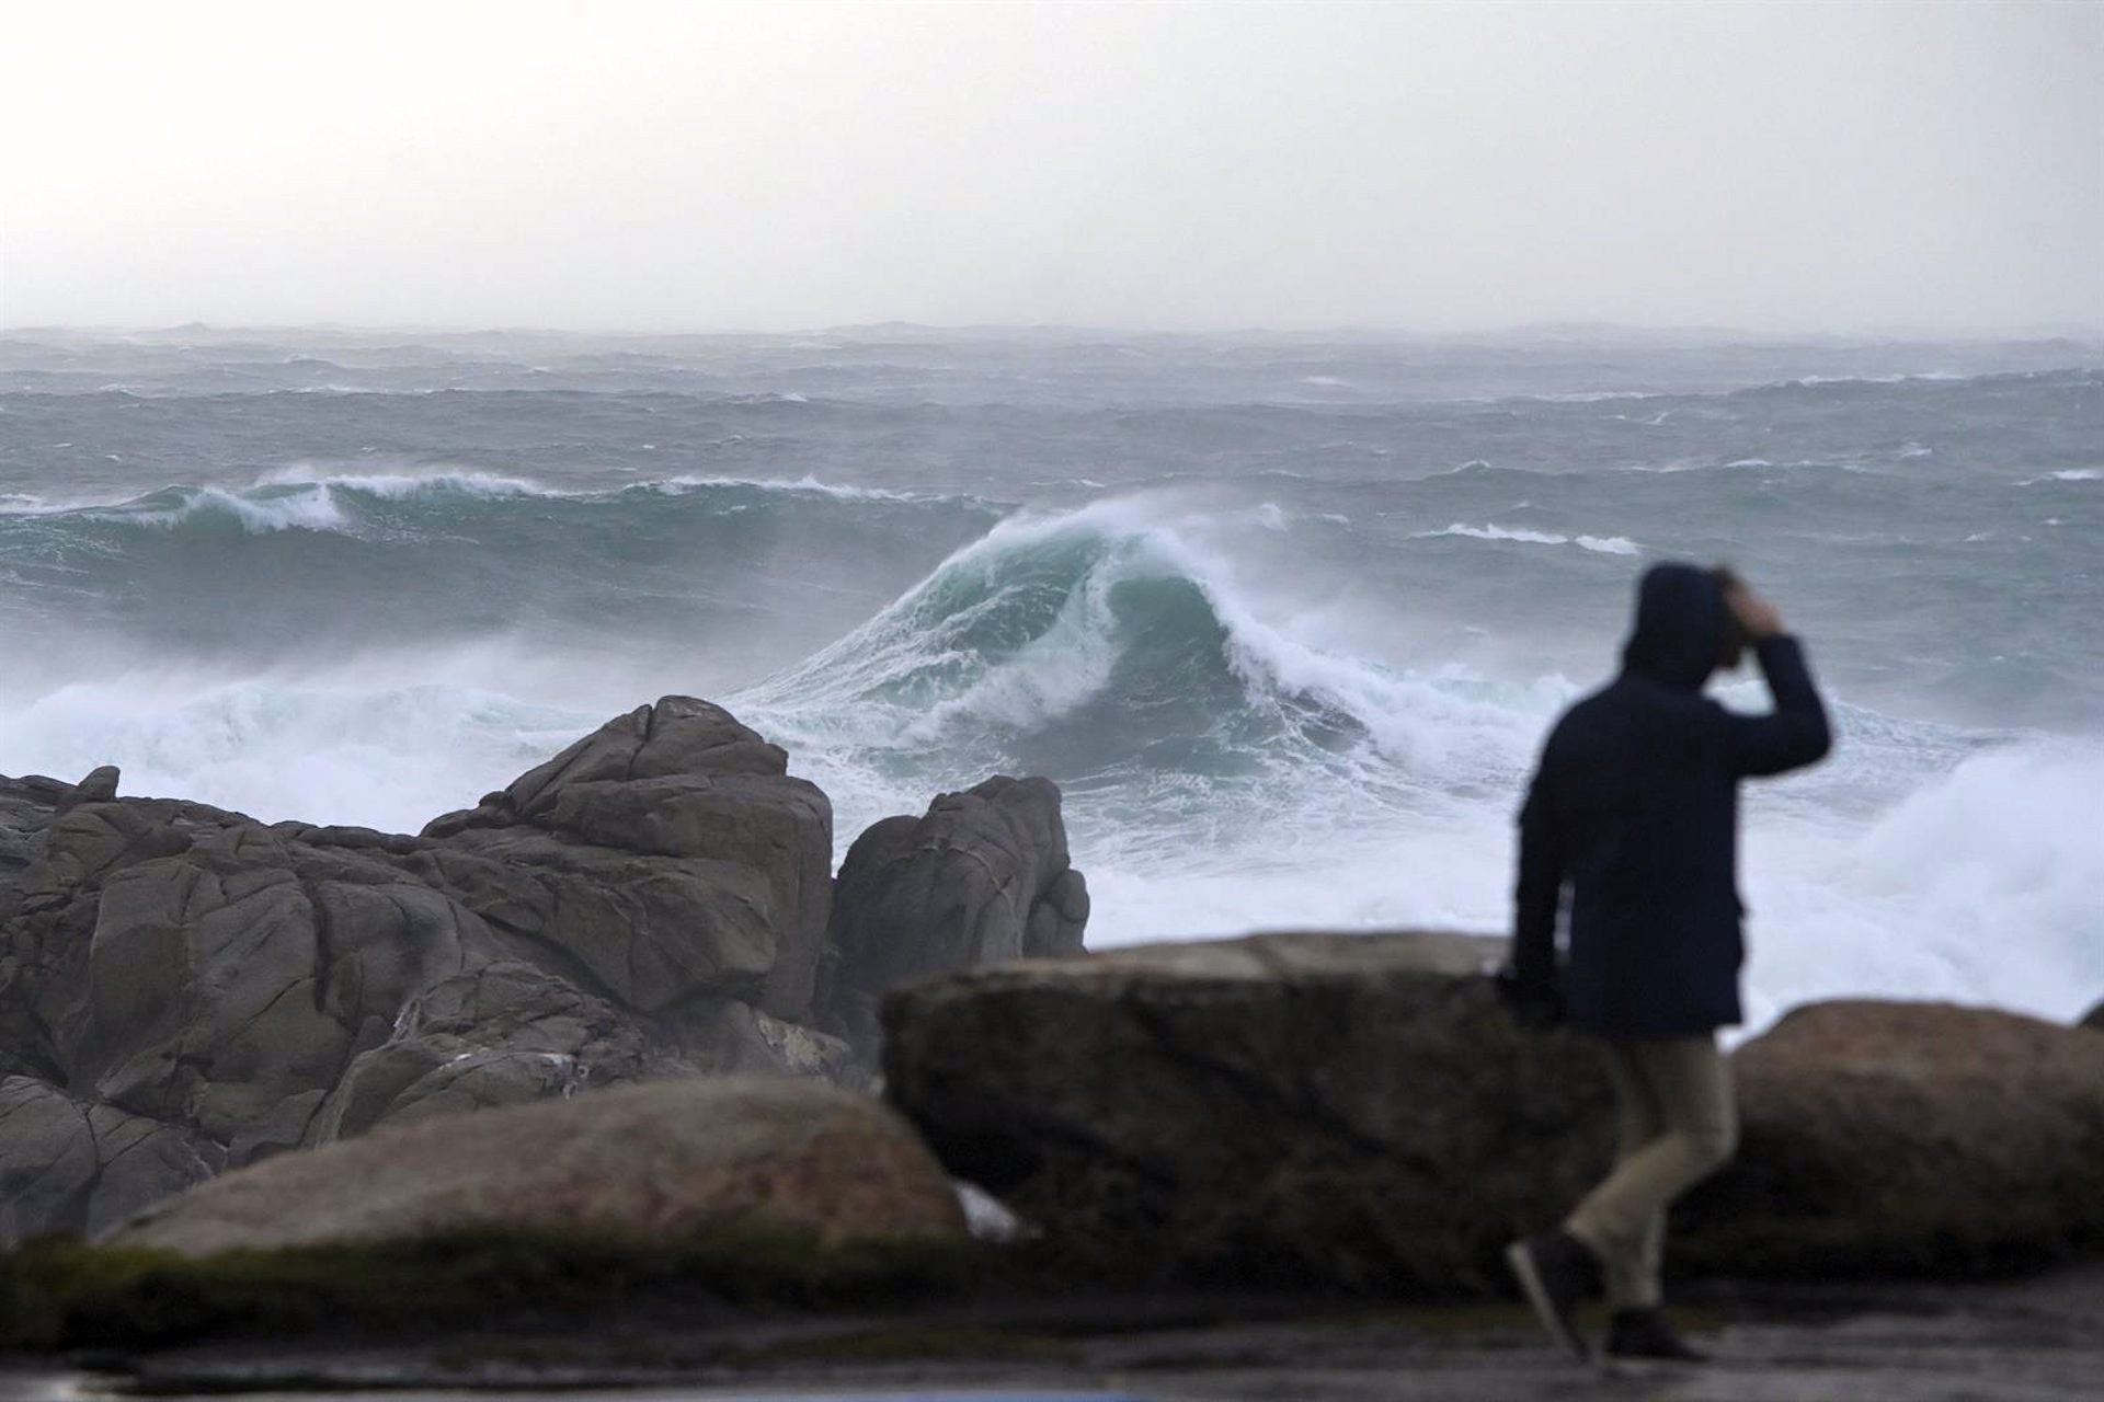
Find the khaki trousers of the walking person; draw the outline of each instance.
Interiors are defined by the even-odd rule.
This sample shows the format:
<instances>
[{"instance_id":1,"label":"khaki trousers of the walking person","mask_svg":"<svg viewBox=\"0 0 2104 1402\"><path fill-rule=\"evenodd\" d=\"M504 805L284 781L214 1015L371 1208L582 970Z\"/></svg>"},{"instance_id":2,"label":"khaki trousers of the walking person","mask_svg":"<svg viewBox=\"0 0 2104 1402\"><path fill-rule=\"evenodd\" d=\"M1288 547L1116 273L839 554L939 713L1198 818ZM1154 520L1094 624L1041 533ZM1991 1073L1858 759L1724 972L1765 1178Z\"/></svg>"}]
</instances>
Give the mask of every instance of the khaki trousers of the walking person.
<instances>
[{"instance_id":1,"label":"khaki trousers of the walking person","mask_svg":"<svg viewBox=\"0 0 2104 1402\"><path fill-rule=\"evenodd\" d=\"M1614 1173L1563 1230L1593 1249L1607 1278L1607 1307L1658 1305L1666 1207L1732 1158L1738 1112L1732 1070L1715 1036L1607 1043L1607 1074L1622 1106Z\"/></svg>"}]
</instances>

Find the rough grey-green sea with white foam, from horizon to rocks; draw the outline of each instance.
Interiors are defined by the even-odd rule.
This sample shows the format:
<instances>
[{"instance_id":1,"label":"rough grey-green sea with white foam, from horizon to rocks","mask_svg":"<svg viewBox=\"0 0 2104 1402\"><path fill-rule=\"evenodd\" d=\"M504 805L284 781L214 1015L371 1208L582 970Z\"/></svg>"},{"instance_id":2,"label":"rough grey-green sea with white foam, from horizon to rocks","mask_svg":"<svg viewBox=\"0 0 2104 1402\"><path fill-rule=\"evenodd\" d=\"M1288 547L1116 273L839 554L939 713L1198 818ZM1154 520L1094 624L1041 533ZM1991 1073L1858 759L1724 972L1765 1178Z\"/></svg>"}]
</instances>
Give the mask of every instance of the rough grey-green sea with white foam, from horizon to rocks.
<instances>
[{"instance_id":1,"label":"rough grey-green sea with white foam, from horizon to rocks","mask_svg":"<svg viewBox=\"0 0 2104 1402\"><path fill-rule=\"evenodd\" d=\"M1096 948L1502 931L1660 559L1837 721L1744 797L1753 1026L2104 998L2098 341L0 332L0 771L417 830L692 694L835 860L1054 778Z\"/></svg>"}]
</instances>

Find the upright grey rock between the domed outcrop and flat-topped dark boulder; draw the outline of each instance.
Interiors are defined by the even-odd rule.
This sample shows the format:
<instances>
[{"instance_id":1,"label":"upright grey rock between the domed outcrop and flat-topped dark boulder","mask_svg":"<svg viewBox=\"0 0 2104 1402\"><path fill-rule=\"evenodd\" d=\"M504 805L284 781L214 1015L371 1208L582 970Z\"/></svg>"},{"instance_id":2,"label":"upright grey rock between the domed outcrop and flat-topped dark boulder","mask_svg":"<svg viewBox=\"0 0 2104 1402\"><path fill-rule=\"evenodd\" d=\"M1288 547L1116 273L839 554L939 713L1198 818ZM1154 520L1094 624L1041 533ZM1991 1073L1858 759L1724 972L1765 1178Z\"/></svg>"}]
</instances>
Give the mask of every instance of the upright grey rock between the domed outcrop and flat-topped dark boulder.
<instances>
[{"instance_id":1,"label":"upright grey rock between the domed outcrop and flat-topped dark boulder","mask_svg":"<svg viewBox=\"0 0 2104 1402\"><path fill-rule=\"evenodd\" d=\"M1079 954L1086 925L1088 883L1067 858L1058 786L995 776L854 839L833 898L823 1013L873 1045L877 1003L898 984Z\"/></svg>"}]
</instances>

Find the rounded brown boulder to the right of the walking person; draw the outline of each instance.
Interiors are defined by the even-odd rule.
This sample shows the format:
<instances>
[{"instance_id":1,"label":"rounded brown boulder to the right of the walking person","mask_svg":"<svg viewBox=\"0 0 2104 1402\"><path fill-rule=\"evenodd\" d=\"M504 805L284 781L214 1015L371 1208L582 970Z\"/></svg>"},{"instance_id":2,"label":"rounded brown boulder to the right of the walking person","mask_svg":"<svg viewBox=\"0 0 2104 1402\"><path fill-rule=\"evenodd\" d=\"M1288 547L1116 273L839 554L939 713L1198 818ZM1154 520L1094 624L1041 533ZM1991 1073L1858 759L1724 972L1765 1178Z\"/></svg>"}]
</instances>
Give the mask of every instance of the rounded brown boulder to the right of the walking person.
<instances>
[{"instance_id":1,"label":"rounded brown boulder to the right of the walking person","mask_svg":"<svg viewBox=\"0 0 2104 1402\"><path fill-rule=\"evenodd\" d=\"M1946 1274L2104 1246L2104 1036L1843 1001L1788 1013L1732 1066L1738 1162L1675 1219L1692 1270Z\"/></svg>"}]
</instances>

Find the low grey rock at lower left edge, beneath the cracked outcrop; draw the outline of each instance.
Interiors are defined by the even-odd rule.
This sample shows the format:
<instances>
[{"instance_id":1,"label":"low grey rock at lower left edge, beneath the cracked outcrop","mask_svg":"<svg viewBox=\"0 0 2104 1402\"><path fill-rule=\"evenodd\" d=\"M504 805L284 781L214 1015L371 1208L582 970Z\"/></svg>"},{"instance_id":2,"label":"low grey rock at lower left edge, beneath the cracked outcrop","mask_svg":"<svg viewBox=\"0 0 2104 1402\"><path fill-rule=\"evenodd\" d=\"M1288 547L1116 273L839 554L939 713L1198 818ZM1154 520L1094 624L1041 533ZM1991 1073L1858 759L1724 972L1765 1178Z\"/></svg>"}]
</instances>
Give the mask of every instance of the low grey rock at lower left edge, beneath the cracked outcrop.
<instances>
[{"instance_id":1,"label":"low grey rock at lower left edge, beneath the cracked outcrop","mask_svg":"<svg viewBox=\"0 0 2104 1402\"><path fill-rule=\"evenodd\" d=\"M0 1078L0 1249L93 1234L219 1171L219 1146L29 1076Z\"/></svg>"}]
</instances>

